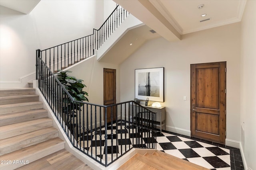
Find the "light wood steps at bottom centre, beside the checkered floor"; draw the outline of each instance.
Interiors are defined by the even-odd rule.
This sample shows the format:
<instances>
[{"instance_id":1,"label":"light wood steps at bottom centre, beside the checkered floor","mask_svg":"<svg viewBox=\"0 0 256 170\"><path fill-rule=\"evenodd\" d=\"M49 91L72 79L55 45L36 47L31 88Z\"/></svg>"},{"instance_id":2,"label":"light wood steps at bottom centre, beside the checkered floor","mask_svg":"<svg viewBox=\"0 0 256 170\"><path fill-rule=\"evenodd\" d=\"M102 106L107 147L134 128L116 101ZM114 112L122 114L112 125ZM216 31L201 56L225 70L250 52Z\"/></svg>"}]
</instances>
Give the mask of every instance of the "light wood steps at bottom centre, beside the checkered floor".
<instances>
[{"instance_id":1,"label":"light wood steps at bottom centre, beside the checkered floor","mask_svg":"<svg viewBox=\"0 0 256 170\"><path fill-rule=\"evenodd\" d=\"M118 170L209 170L186 160L156 150L152 154L136 153Z\"/></svg>"}]
</instances>

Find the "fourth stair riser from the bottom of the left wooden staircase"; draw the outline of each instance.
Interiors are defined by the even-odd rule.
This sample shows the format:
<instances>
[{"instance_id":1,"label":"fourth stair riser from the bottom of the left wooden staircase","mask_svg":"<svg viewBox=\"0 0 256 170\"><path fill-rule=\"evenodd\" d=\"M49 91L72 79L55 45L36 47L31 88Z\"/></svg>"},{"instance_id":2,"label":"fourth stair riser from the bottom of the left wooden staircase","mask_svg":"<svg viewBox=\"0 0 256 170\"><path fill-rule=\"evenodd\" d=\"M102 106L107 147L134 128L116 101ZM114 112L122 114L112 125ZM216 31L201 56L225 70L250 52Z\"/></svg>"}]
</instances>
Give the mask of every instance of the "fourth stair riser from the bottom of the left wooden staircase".
<instances>
[{"instance_id":1,"label":"fourth stair riser from the bottom of the left wooden staircase","mask_svg":"<svg viewBox=\"0 0 256 170\"><path fill-rule=\"evenodd\" d=\"M0 119L0 126L11 125L14 123L20 123L20 122L30 121L34 119L40 119L43 117L47 117L47 111L31 113L29 115L21 115L21 116L16 116L16 117L7 118L7 119Z\"/></svg>"}]
</instances>

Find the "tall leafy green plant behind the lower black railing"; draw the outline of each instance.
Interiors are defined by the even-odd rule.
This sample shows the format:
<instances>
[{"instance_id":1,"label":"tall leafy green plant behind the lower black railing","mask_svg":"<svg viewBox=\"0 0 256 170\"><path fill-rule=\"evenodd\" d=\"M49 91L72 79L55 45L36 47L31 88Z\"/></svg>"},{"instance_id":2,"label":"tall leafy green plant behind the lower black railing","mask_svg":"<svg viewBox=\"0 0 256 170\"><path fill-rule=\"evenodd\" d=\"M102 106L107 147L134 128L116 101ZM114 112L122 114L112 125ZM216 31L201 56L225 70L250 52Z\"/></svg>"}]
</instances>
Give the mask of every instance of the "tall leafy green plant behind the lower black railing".
<instances>
[{"instance_id":1,"label":"tall leafy green plant behind the lower black railing","mask_svg":"<svg viewBox=\"0 0 256 170\"><path fill-rule=\"evenodd\" d=\"M89 102L87 92L83 91L83 88L86 87L85 84L82 84L83 80L78 79L74 76L68 76L67 73L72 72L69 70L62 71L58 70L57 76L58 80L64 85L66 90L69 92L70 96L72 96L72 99L75 101ZM86 95L86 96L85 96ZM68 129L71 131L71 134L74 135L74 137L77 139L78 135L78 123L76 122L76 113L78 111L81 111L81 107L83 106L81 103L73 102L66 94L63 95L62 102L64 103L62 107L63 113L66 114L66 125L68 126ZM62 117L64 118L64 117ZM76 130L75 130L76 129Z\"/></svg>"}]
</instances>

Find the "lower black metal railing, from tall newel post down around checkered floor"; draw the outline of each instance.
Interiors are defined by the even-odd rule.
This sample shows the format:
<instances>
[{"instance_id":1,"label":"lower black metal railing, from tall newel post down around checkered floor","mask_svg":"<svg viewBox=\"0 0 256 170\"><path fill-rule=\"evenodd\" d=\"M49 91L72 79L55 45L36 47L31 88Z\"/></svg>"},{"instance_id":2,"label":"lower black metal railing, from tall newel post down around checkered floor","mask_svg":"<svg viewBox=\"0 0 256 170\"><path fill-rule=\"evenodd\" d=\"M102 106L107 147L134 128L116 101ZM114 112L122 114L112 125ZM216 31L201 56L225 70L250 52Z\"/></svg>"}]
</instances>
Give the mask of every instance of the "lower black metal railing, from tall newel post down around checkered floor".
<instances>
[{"instance_id":1,"label":"lower black metal railing, from tall newel post down around checkered floor","mask_svg":"<svg viewBox=\"0 0 256 170\"><path fill-rule=\"evenodd\" d=\"M75 101L42 58L37 59L38 87L76 149L104 166L132 148L156 149L156 113L134 101L109 106ZM104 121L108 117L110 123Z\"/></svg>"}]
</instances>

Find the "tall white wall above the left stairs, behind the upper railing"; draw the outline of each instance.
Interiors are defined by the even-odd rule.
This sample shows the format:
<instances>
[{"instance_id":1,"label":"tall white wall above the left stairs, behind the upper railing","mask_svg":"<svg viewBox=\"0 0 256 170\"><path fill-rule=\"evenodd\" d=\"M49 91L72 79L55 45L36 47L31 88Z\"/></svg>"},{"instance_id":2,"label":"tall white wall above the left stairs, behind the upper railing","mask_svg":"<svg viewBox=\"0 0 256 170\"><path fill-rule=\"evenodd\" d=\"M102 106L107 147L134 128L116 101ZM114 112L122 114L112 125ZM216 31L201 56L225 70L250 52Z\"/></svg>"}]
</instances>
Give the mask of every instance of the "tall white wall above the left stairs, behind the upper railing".
<instances>
[{"instance_id":1,"label":"tall white wall above the left stairs, behind the upper railing","mask_svg":"<svg viewBox=\"0 0 256 170\"><path fill-rule=\"evenodd\" d=\"M0 87L24 87L35 77L36 49L93 33L103 0L41 0L28 15L0 6Z\"/></svg>"}]
</instances>

